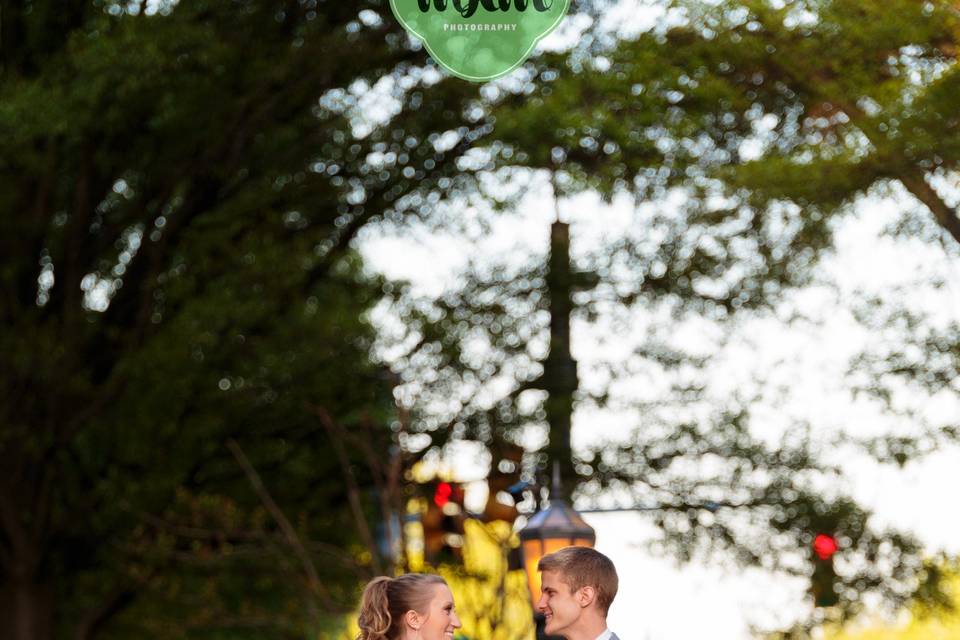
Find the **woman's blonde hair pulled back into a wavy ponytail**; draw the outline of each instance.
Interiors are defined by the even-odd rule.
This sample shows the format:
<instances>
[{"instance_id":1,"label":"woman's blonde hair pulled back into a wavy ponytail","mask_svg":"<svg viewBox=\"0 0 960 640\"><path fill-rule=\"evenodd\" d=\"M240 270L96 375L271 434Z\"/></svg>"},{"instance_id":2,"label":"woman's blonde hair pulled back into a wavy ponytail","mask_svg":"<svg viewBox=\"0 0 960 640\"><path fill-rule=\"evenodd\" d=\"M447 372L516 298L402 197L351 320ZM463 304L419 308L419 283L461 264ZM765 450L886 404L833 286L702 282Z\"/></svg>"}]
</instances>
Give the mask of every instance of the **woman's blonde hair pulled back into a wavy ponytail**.
<instances>
[{"instance_id":1,"label":"woman's blonde hair pulled back into a wavy ponytail","mask_svg":"<svg viewBox=\"0 0 960 640\"><path fill-rule=\"evenodd\" d=\"M423 613L433 597L433 586L447 584L430 573L407 573L396 578L371 580L360 600L357 640L396 640L407 611Z\"/></svg>"}]
</instances>

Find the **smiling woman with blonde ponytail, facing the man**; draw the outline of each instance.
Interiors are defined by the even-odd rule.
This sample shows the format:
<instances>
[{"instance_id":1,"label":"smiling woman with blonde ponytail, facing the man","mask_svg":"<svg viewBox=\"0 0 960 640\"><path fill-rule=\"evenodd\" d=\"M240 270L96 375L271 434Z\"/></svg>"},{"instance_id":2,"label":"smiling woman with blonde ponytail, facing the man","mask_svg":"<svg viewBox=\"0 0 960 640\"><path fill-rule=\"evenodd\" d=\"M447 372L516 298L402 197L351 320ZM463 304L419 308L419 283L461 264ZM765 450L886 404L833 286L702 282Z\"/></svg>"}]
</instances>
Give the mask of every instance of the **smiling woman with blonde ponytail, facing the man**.
<instances>
[{"instance_id":1,"label":"smiling woman with blonde ponytail, facing the man","mask_svg":"<svg viewBox=\"0 0 960 640\"><path fill-rule=\"evenodd\" d=\"M371 580L358 623L357 640L451 640L461 626L450 587L427 573Z\"/></svg>"}]
</instances>

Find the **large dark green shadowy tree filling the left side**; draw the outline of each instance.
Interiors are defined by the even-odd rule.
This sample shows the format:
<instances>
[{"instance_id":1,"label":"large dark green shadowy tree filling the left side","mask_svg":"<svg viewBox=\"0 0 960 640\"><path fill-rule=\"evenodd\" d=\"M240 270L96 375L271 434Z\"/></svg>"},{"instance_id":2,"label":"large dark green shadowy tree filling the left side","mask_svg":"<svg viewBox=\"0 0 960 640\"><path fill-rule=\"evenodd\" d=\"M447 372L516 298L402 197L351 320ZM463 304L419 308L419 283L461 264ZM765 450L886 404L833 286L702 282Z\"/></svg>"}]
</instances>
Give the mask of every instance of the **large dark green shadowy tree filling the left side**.
<instances>
[{"instance_id":1,"label":"large dark green shadowy tree filling the left side","mask_svg":"<svg viewBox=\"0 0 960 640\"><path fill-rule=\"evenodd\" d=\"M351 241L464 179L424 140L473 88L354 3L0 24L0 637L339 625L392 569L370 523L403 466ZM407 103L361 136L340 107L378 82Z\"/></svg>"}]
</instances>

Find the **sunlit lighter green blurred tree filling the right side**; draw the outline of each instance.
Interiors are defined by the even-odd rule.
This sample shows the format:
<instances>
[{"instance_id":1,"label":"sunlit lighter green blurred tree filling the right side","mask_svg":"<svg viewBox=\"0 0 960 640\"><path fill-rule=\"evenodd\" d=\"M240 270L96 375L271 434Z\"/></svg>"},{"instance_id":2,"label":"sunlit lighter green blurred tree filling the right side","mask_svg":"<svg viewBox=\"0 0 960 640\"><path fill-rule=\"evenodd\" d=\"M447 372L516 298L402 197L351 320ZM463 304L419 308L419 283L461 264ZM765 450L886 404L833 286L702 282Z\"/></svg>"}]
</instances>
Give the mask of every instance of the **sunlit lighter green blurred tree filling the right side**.
<instances>
[{"instance_id":1,"label":"sunlit lighter green blurred tree filling the right side","mask_svg":"<svg viewBox=\"0 0 960 640\"><path fill-rule=\"evenodd\" d=\"M657 9L660 19L645 27L611 20L604 32L604 13L614 12L598 6L595 28L572 52L539 59L522 89L497 97L494 161L548 169L560 195L589 188L637 207L635 232L582 260L600 280L582 296L584 317L611 303L661 310L678 325L776 311L815 278L865 197L905 200L889 232L956 258L953 3L680 1ZM907 299L885 298L885 313L863 301L862 322L887 329L889 342L851 363L851 386L883 400L902 431L827 446L845 440L851 451L902 466L955 440L951 418L925 422L916 405L946 395L955 406L956 323L905 308ZM669 376L709 362L667 331L650 334L628 368ZM898 407L904 382L917 394L913 411ZM756 439L752 398L713 400L696 414L689 408L704 398L696 377L675 390L668 411L638 411L632 442L584 452L587 492L619 487L664 505L656 520L681 557L705 546L809 575L811 599L832 593L822 602L841 616L868 591L892 603L927 593L918 584L937 572L924 566L918 541L873 529L869 511L831 480L842 473L824 464L826 443L797 425L769 447ZM603 389L595 396L609 400ZM835 572L790 551L812 557L818 534L844 549Z\"/></svg>"}]
</instances>

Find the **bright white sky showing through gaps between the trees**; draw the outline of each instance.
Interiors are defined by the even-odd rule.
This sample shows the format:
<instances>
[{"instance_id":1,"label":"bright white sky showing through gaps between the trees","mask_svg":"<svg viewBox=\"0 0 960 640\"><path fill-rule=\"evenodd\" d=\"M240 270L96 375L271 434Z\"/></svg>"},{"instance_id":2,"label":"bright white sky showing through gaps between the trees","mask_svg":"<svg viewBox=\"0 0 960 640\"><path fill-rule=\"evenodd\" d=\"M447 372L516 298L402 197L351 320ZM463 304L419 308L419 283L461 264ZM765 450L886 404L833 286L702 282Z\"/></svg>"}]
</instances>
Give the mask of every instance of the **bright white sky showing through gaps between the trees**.
<instances>
[{"instance_id":1,"label":"bright white sky showing through gaps between the trees","mask_svg":"<svg viewBox=\"0 0 960 640\"><path fill-rule=\"evenodd\" d=\"M901 198L864 200L858 215L840 230L838 250L826 260L823 274L836 288L814 287L792 295L788 303L820 320L803 328L785 329L775 320L751 322L741 328L731 344L716 355L711 385L718 392L750 384L760 374L764 385L777 389L780 404L771 404L765 429L775 437L790 419L803 419L817 433L828 435L875 433L895 426L876 406L854 401L844 386L850 357L876 336L857 326L846 303L853 292L890 292L906 287L914 307L960 318L960 292L948 284L938 291L919 287L917 279L941 275L947 283L960 282L960 264L943 250L919 241L880 237L880 230L909 206ZM361 250L368 264L392 278L410 280L422 293L436 294L448 286L467 256L492 261L518 261L543 255L554 217L549 191L533 191L521 207L529 212L504 216L490 233L471 246L452 235L408 231L399 236L368 233ZM632 209L625 201L612 206L592 195L560 203L561 217L572 224L573 251L585 251L605 234L616 234L631 223ZM902 292L895 295L905 295ZM574 325L573 352L582 365L589 364L604 347L596 335ZM618 336L624 343L636 336ZM619 344L619 343L618 343ZM616 347L616 345L614 345ZM583 382L590 383L589 367L581 366ZM753 384L756 384L753 382ZM940 415L958 415L956 400L933 407ZM575 447L597 438L622 437L631 425L616 414L578 412L574 416ZM483 470L466 477L478 477ZM931 551L960 553L960 510L953 489L960 452L942 452L912 463L902 470L879 467L863 460L845 462L848 489L877 513L879 523L915 531ZM642 514L588 514L597 530L597 548L615 562L621 591L610 613L610 627L634 640L740 640L750 628L785 626L802 614L805 585L802 580L773 576L762 570L741 571L695 562L678 567L670 558L654 557L645 544L656 531Z\"/></svg>"}]
</instances>

